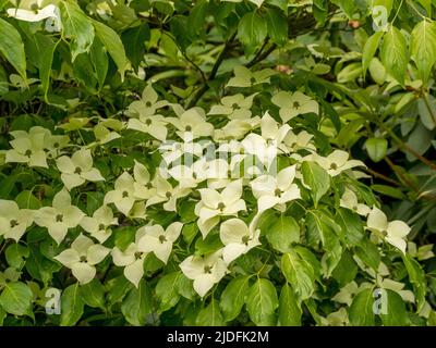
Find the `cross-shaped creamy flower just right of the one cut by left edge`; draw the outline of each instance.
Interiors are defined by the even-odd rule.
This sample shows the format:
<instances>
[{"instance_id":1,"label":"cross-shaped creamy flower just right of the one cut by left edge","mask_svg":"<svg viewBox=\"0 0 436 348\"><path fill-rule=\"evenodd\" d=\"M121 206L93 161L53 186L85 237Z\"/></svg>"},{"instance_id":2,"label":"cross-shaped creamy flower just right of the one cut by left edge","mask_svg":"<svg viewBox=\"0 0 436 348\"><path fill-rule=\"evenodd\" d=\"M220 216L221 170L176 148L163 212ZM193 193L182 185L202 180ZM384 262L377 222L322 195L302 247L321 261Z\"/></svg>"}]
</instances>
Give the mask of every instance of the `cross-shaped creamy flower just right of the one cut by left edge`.
<instances>
[{"instance_id":1,"label":"cross-shaped creamy flower just right of the one cut by left edge","mask_svg":"<svg viewBox=\"0 0 436 348\"><path fill-rule=\"evenodd\" d=\"M71 204L70 194L63 188L55 196L52 207L43 207L35 213L35 223L47 227L49 235L60 244L69 228L76 227L83 216L84 212Z\"/></svg>"}]
</instances>

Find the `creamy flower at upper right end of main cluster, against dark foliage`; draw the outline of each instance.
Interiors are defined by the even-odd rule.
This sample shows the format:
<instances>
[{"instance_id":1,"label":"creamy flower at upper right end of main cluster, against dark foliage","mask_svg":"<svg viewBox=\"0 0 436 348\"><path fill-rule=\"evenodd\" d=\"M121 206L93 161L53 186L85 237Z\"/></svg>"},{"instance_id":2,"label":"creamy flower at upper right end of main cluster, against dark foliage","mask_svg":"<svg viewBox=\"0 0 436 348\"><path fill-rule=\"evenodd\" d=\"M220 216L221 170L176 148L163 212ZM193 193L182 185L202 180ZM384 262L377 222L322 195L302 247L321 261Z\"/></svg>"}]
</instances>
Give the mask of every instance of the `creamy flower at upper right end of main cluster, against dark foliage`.
<instances>
[{"instance_id":1,"label":"creamy flower at upper right end of main cluster, against dark foliage","mask_svg":"<svg viewBox=\"0 0 436 348\"><path fill-rule=\"evenodd\" d=\"M279 114L283 123L305 113L318 113L318 103L311 97L303 95L301 91L291 94L289 91L279 91L272 96L272 103L280 108Z\"/></svg>"}]
</instances>

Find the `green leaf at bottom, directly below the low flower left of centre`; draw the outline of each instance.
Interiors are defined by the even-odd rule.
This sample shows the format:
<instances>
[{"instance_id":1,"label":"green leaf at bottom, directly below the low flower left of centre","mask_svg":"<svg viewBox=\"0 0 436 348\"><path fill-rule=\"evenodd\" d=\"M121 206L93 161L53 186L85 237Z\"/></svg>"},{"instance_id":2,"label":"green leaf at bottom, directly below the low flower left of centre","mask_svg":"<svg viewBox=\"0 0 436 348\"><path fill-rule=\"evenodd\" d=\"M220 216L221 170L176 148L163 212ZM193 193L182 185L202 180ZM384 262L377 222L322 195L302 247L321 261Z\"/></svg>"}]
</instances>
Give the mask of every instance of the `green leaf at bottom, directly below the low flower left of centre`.
<instances>
[{"instance_id":1,"label":"green leaf at bottom, directly below the low flower left of centre","mask_svg":"<svg viewBox=\"0 0 436 348\"><path fill-rule=\"evenodd\" d=\"M130 290L121 304L121 312L125 320L134 326L144 326L147 314L152 313L152 288L144 279L141 279L138 288Z\"/></svg>"}]
</instances>

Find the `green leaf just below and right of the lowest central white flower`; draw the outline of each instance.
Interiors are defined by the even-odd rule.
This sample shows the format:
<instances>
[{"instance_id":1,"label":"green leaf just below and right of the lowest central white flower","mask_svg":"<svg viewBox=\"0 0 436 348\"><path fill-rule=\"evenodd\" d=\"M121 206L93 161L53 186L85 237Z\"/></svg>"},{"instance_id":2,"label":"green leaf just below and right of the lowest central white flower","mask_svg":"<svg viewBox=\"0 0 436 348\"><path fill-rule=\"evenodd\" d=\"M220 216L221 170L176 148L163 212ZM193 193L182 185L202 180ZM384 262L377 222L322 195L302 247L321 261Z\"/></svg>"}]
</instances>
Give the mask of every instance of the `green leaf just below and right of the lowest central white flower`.
<instances>
[{"instance_id":1,"label":"green leaf just below and right of the lowest central white flower","mask_svg":"<svg viewBox=\"0 0 436 348\"><path fill-rule=\"evenodd\" d=\"M244 306L246 293L249 291L250 276L242 275L230 281L221 294L219 306L225 321L234 320Z\"/></svg>"}]
</instances>

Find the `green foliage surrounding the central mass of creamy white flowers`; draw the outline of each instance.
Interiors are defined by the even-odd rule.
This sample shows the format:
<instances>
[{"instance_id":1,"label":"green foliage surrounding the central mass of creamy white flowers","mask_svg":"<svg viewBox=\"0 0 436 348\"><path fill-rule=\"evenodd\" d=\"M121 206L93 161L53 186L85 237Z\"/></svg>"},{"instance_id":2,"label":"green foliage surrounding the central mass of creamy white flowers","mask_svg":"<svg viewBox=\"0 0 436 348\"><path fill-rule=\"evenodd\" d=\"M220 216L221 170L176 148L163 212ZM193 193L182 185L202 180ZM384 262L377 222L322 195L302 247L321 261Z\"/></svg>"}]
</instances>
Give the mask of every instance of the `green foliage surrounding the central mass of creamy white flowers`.
<instances>
[{"instance_id":1,"label":"green foliage surrounding the central mass of creamy white flowers","mask_svg":"<svg viewBox=\"0 0 436 348\"><path fill-rule=\"evenodd\" d=\"M323 156L342 149L364 161L370 177L364 184L353 182L353 187L368 206L380 203L389 221L407 222L412 227L408 235L412 244L401 254L379 248L368 237L362 245L344 243L341 235L347 239L350 231L363 231L364 225L354 215L328 210L337 208L343 191L339 182L332 182L327 189L336 202L325 206L322 223L316 222L322 208L312 217L294 206L287 215L264 216L265 248L275 259L263 251L246 254L238 263L242 272L232 273L201 299L175 265L162 266L156 258L146 262L138 287L108 260L99 265L93 282L80 285L52 260L65 246L57 246L43 227L33 226L19 243L0 237L0 323L436 324L432 252L436 234L436 1L44 1L40 7L58 7L60 32L48 32L44 21L19 21L7 13L7 9L29 3L0 0L1 150L11 148L10 132L33 126L69 134L81 146L93 144L93 128L101 120L123 120L128 107L141 99L149 83L162 100L184 109L209 110L229 95L226 84L235 66L253 72L268 67L277 73L270 84L249 89L257 92L253 114L272 110L279 120L271 102L279 90L304 91L316 100L319 113L293 120L292 128L312 134ZM63 129L56 128L59 125ZM143 157L134 145L144 138L129 129L120 133L121 142L96 147L96 166L109 186ZM145 162L148 170L156 166L153 158ZM312 190L322 177L323 173L313 178ZM326 181L330 185L329 177ZM61 186L52 166L31 170L4 163L0 156L0 199L38 209L49 206ZM315 209L326 192L315 189ZM72 195L73 202L87 213L101 204L102 196L99 189ZM167 226L171 221L192 223L191 215L156 212L153 219ZM286 220L281 227L274 224L277 216ZM118 226L116 245L126 245L136 227L136 222ZM71 233L76 236L78 228ZM280 228L289 234L286 238L299 241L291 249L280 250L282 244L275 239ZM295 228L302 235L311 231L331 234L332 241L319 246L319 240L311 243L306 236L300 243ZM184 243L191 245L196 238L199 253L215 250L213 241L198 241L197 233L190 236L185 231ZM325 252L334 253L337 244L341 252L326 276L320 259ZM373 269L374 276L358 266L355 256ZM389 278L403 287L387 287L388 314L375 315L373 288L383 287L380 261ZM371 286L352 291L347 288L352 281ZM50 287L62 290L60 315L45 313L45 291ZM402 299L404 290L413 293L413 301ZM340 291L350 296L347 306L335 300Z\"/></svg>"}]
</instances>

